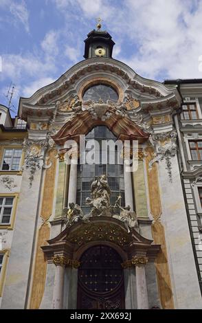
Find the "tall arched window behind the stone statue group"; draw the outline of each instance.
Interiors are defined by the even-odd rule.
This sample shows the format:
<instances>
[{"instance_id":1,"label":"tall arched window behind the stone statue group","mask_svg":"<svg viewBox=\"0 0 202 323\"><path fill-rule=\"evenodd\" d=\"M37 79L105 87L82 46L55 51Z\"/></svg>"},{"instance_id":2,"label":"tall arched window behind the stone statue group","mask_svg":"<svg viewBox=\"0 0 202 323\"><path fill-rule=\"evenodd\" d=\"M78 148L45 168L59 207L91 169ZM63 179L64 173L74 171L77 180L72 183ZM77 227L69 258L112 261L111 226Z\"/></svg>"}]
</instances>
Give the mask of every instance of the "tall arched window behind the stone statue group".
<instances>
[{"instance_id":1,"label":"tall arched window behind the stone statue group","mask_svg":"<svg viewBox=\"0 0 202 323\"><path fill-rule=\"evenodd\" d=\"M82 207L82 210L87 214L90 209L85 205L87 197L91 197L91 183L100 175L106 175L111 188L111 205L115 204L115 201L119 195L121 195L121 205L125 206L124 199L124 165L118 164L117 151L107 150L107 162L102 164L102 140L113 140L116 142L117 138L106 126L96 126L86 136L86 143L89 140L96 140L99 143L100 151L96 151L96 154L100 156L100 164L93 165L80 165L78 164L78 181L77 181L77 197L76 203ZM117 148L117 146L115 146ZM87 151L86 151L87 153ZM115 164L109 164L109 155L115 153Z\"/></svg>"}]
</instances>

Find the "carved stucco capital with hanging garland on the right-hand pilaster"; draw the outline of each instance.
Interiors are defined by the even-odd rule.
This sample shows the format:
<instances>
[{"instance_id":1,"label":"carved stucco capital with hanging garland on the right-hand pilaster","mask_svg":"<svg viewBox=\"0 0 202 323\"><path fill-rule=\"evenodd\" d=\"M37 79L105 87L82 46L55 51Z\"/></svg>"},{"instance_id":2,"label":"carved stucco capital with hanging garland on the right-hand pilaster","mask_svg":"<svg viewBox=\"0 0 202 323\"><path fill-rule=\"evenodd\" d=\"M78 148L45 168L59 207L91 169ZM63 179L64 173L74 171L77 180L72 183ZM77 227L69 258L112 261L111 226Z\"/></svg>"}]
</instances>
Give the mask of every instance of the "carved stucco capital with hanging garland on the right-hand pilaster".
<instances>
[{"instance_id":1,"label":"carved stucco capital with hanging garland on the right-hand pilaster","mask_svg":"<svg viewBox=\"0 0 202 323\"><path fill-rule=\"evenodd\" d=\"M169 181L172 183L171 157L177 153L177 132L175 130L167 133L153 133L150 137L151 144L155 147L154 158L149 162L149 170L159 160L166 160Z\"/></svg>"}]
</instances>

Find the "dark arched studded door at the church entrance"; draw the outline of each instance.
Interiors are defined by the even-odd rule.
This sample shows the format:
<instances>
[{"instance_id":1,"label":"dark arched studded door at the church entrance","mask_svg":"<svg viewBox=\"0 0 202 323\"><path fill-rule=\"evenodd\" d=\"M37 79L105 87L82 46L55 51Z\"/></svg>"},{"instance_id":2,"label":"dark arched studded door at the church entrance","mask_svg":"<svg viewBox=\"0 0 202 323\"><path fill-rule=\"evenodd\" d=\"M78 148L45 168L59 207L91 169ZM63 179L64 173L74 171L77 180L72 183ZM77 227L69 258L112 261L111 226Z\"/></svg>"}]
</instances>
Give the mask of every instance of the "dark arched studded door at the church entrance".
<instances>
[{"instance_id":1,"label":"dark arched studded door at the church entrance","mask_svg":"<svg viewBox=\"0 0 202 323\"><path fill-rule=\"evenodd\" d=\"M87 249L78 269L77 309L124 309L122 258L106 245Z\"/></svg>"}]
</instances>

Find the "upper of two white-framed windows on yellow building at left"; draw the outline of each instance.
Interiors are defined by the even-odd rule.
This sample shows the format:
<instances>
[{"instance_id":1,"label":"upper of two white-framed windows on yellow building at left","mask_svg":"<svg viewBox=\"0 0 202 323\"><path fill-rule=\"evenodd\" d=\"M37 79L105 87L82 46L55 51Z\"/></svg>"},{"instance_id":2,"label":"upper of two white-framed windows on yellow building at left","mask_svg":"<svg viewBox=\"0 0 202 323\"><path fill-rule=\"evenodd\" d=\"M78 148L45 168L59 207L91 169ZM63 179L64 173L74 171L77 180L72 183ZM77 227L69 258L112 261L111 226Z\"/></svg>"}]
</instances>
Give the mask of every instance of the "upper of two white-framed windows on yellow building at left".
<instances>
[{"instance_id":1,"label":"upper of two white-framed windows on yellow building at left","mask_svg":"<svg viewBox=\"0 0 202 323\"><path fill-rule=\"evenodd\" d=\"M1 170L19 170L22 149L5 148Z\"/></svg>"}]
</instances>

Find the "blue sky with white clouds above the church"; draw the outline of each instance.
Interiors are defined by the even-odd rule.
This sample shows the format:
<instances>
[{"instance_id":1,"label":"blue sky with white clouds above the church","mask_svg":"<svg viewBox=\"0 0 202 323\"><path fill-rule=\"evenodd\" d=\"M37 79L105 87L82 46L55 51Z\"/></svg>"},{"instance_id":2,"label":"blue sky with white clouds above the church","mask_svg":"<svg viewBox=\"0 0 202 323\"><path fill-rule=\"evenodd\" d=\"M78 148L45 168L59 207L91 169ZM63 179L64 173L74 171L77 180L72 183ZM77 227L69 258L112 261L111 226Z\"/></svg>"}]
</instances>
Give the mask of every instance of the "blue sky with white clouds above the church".
<instances>
[{"instance_id":1,"label":"blue sky with white clouds above the church","mask_svg":"<svg viewBox=\"0 0 202 323\"><path fill-rule=\"evenodd\" d=\"M83 59L101 16L113 58L145 78L202 78L202 0L0 0L0 103L30 97Z\"/></svg>"}]
</instances>

